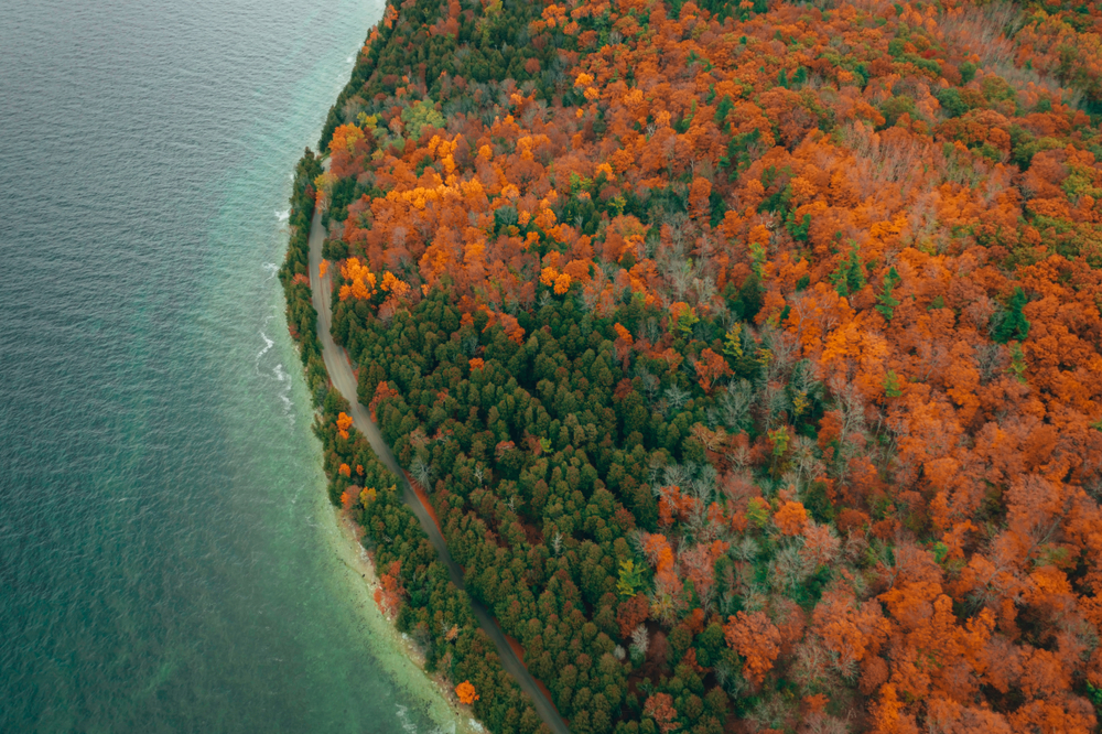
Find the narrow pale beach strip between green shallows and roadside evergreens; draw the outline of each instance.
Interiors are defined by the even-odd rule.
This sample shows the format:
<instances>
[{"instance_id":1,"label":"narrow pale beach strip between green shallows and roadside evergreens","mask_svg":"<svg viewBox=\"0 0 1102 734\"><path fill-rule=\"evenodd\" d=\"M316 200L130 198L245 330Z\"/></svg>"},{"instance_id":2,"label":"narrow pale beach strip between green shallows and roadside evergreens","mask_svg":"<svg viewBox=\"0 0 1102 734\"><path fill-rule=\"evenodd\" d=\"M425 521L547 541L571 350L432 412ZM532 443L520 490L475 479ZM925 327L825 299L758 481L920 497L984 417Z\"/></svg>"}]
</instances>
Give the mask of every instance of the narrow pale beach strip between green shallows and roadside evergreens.
<instances>
[{"instance_id":1,"label":"narrow pale beach strip between green shallows and roadside evergreens","mask_svg":"<svg viewBox=\"0 0 1102 734\"><path fill-rule=\"evenodd\" d=\"M408 659L422 677L422 681L437 693L447 706L451 721L455 724L454 734L484 734L486 727L475 717L471 706L460 703L452 690L451 684L443 673L430 673L424 669L424 654L407 635L398 632L393 620L379 608L375 601L375 591L379 589L379 576L367 549L359 542L358 526L345 512L338 508L332 508L333 519L336 522L339 539L335 539L338 558L349 570L354 571L367 591L370 604L370 612L367 614L378 614L382 620L382 629L386 630L385 644L390 646L396 652ZM440 722L434 722L440 723Z\"/></svg>"}]
</instances>

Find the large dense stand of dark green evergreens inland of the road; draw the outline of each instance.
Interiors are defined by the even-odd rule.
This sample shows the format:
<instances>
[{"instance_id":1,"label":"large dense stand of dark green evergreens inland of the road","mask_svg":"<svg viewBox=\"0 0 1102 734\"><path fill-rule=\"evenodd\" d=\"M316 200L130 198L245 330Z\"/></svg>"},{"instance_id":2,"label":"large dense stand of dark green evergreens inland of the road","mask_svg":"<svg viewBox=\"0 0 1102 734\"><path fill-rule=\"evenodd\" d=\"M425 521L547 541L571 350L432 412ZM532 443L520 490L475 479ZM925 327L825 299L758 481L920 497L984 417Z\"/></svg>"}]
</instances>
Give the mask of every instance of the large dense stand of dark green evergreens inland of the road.
<instances>
[{"instance_id":1,"label":"large dense stand of dark green evergreens inland of the road","mask_svg":"<svg viewBox=\"0 0 1102 734\"><path fill-rule=\"evenodd\" d=\"M656 639L642 644L631 634L647 614L634 618L639 602L623 603L653 583L633 531L660 530L656 490L669 484L694 486L701 497L715 490L707 438L692 427L725 425L750 441L766 430L749 410L748 386L768 374L759 358L768 344L747 335L725 345L726 332L714 322L682 324L674 353L695 359L710 347L726 349L733 377L746 381L745 400L731 392L715 400L679 367L681 359L627 353L623 341L617 348L616 325L657 336L656 307L628 298L599 319L541 288L544 305L521 322L531 333L522 345L500 324L488 326L485 313L461 323L445 290L389 323L361 319L356 302L338 301L334 336L361 365L360 402L375 406L399 461L432 489L466 587L523 646L526 665L571 730L656 731L650 719L638 728L644 701L668 692L692 721L688 731L723 731L728 714L745 714L758 699L728 699L700 667L742 669L724 644L721 617L690 618L668 635L656 625ZM804 368L795 366L791 389ZM804 395L798 427L810 435L822 415L820 397ZM707 544L717 529L701 507L693 540ZM832 511L824 497L818 509L824 520ZM764 527L752 537L763 541L752 558L766 576L781 548ZM699 607L700 594L711 601L715 578L732 570L725 555L714 563L688 574L687 604ZM817 589L821 583L791 593L811 608ZM727 593L715 611L743 608Z\"/></svg>"}]
</instances>

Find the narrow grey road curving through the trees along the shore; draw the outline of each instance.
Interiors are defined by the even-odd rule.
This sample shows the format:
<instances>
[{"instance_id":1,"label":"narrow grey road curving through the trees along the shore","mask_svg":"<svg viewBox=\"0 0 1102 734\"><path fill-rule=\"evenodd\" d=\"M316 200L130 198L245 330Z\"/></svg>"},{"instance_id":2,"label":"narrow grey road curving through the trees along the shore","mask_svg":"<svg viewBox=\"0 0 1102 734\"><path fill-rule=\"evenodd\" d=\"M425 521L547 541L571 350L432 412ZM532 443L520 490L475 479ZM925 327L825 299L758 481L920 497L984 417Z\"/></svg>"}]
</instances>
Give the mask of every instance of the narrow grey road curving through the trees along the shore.
<instances>
[{"instance_id":1,"label":"narrow grey road curving through the trees along the shore","mask_svg":"<svg viewBox=\"0 0 1102 734\"><path fill-rule=\"evenodd\" d=\"M328 169L328 161L325 161L325 166ZM433 522L432 517L429 516L429 511L421 505L421 500L418 499L413 488L406 479L406 474L402 472L401 466L398 465L398 460L395 458L390 446L382 440L382 434L379 433L379 428L371 420L370 413L359 403L356 392L356 376L353 374L347 353L336 345L329 333L329 322L333 317L333 312L329 309L329 299L333 289L328 273L322 279L320 271L322 244L324 241L325 227L322 225L322 215L320 211L315 209L314 219L310 225L310 288L314 309L317 311L317 338L322 343L322 358L325 360L325 368L329 373L329 380L341 391L341 395L352 403L350 414L353 424L367 436L367 440L371 443L371 449L375 450L379 460L399 477L402 487L402 499L410 506L413 514L417 515L417 519L421 522L424 531L429 533L429 540L432 541L433 548L436 549L441 563L447 568L452 583L458 589L463 589L463 570L460 569L460 564L447 552L447 543L444 542L444 538L440 535L436 523ZM531 697L536 712L540 715L540 719L555 734L570 734L570 728L562 720L562 716L559 715L559 712L551 705L547 697L542 694L536 683L536 679L532 678L532 674L525 668L517 654L514 652L512 647L509 646L509 641L505 638L505 634L494 622L494 617L490 616L489 612L482 604L474 600L471 600L471 606L474 609L475 618L478 620L478 626L494 640L498 657L501 658L501 667Z\"/></svg>"}]
</instances>

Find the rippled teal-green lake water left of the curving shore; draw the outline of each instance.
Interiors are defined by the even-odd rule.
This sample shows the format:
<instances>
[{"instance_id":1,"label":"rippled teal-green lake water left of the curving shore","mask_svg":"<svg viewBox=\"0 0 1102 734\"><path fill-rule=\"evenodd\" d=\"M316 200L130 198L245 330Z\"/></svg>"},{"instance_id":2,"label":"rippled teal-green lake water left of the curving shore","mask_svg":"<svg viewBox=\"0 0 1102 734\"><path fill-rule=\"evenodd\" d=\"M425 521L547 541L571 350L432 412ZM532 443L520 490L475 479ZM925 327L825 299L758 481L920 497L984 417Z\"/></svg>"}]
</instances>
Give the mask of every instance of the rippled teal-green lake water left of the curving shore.
<instances>
[{"instance_id":1,"label":"rippled teal-green lake water left of the curving shore","mask_svg":"<svg viewBox=\"0 0 1102 734\"><path fill-rule=\"evenodd\" d=\"M273 278L380 0L0 12L0 732L453 728L338 553Z\"/></svg>"}]
</instances>

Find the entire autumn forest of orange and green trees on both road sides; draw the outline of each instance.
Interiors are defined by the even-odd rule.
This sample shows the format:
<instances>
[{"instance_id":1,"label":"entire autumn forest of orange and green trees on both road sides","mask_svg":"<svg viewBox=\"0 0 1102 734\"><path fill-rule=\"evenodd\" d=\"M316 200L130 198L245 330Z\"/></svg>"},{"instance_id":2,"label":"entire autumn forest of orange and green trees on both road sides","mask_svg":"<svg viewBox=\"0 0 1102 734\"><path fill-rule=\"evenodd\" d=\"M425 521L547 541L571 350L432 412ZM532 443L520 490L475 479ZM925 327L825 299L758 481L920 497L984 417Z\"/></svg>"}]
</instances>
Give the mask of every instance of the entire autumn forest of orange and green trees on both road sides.
<instances>
[{"instance_id":1,"label":"entire autumn forest of orange and green trees on both road sides","mask_svg":"<svg viewBox=\"0 0 1102 734\"><path fill-rule=\"evenodd\" d=\"M315 207L356 398L572 732L1095 731L1100 79L1096 2L388 2L281 277L430 669L545 731L327 382Z\"/></svg>"}]
</instances>

